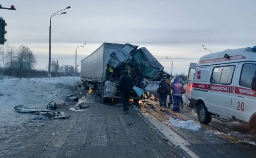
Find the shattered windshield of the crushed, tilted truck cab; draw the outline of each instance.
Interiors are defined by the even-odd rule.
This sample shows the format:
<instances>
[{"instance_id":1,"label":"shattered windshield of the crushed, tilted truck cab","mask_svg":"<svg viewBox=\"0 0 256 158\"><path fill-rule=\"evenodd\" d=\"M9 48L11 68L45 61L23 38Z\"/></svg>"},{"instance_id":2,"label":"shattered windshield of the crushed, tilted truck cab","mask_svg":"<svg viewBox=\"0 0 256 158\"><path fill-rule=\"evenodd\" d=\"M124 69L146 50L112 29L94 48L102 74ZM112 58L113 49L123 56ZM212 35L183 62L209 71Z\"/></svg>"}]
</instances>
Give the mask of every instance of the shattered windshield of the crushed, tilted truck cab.
<instances>
[{"instance_id":1,"label":"shattered windshield of the crushed, tilted truck cab","mask_svg":"<svg viewBox=\"0 0 256 158\"><path fill-rule=\"evenodd\" d=\"M146 48L138 49L132 56L137 63L140 74L145 78L153 79L154 76L163 70L163 66Z\"/></svg>"}]
</instances>

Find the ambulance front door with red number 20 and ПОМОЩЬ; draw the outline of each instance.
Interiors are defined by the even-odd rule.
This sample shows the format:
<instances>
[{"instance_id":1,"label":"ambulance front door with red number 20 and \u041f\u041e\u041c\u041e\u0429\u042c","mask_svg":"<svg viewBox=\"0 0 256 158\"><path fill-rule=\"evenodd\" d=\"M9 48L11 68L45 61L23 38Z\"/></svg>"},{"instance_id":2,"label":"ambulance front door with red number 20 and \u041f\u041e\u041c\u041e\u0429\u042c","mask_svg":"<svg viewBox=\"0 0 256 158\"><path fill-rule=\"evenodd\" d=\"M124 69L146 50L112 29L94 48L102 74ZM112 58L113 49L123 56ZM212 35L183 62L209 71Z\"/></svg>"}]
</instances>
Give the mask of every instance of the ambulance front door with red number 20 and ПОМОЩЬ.
<instances>
[{"instance_id":1,"label":"ambulance front door with red number 20 and \u041f\u041e\u041c\u041e\u0429\u042c","mask_svg":"<svg viewBox=\"0 0 256 158\"><path fill-rule=\"evenodd\" d=\"M251 89L252 78L256 75L256 63L240 63L233 90L232 116L248 122L256 112L256 91Z\"/></svg>"}]
</instances>

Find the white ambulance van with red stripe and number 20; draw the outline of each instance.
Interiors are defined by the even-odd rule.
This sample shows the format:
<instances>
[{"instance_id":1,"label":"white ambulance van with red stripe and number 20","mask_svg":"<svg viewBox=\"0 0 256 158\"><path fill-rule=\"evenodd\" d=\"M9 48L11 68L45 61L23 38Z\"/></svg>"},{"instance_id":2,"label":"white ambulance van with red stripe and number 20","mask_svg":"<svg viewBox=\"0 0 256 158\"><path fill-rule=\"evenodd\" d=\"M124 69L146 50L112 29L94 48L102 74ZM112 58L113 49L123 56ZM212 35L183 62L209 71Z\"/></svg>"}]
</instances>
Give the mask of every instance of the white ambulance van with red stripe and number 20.
<instances>
[{"instance_id":1,"label":"white ambulance van with red stripe and number 20","mask_svg":"<svg viewBox=\"0 0 256 158\"><path fill-rule=\"evenodd\" d=\"M212 117L256 127L256 46L212 53L200 58L195 70L191 104L198 120Z\"/></svg>"}]
</instances>

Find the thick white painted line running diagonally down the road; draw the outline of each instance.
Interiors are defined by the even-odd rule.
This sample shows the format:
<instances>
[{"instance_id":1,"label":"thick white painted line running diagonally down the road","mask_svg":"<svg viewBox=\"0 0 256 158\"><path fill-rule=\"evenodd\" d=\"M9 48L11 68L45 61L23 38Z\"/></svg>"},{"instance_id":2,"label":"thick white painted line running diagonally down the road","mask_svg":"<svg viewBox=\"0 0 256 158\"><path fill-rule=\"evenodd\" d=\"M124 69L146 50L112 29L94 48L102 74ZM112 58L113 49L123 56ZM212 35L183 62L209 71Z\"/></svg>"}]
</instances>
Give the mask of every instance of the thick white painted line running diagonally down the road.
<instances>
[{"instance_id":1,"label":"thick white painted line running diagonally down the road","mask_svg":"<svg viewBox=\"0 0 256 158\"><path fill-rule=\"evenodd\" d=\"M187 148L186 145L190 145L185 139L180 137L177 133L167 127L164 123L157 120L154 116L149 113L142 113L142 115L147 119L147 121L158 129L160 133L162 133L171 143L175 146L179 146L182 150L184 150L189 156L192 158L200 158L193 151ZM161 129L161 130L159 130Z\"/></svg>"}]
</instances>

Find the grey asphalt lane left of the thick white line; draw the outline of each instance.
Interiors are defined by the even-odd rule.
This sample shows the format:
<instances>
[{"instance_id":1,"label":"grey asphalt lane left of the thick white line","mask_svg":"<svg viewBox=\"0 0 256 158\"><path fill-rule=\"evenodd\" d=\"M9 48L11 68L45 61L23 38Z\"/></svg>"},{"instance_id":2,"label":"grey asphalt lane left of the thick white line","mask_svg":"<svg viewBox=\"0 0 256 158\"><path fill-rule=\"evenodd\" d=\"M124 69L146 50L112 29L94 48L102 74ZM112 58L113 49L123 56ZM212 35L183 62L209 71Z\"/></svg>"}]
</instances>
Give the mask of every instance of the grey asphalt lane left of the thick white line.
<instances>
[{"instance_id":1,"label":"grey asphalt lane left of the thick white line","mask_svg":"<svg viewBox=\"0 0 256 158\"><path fill-rule=\"evenodd\" d=\"M82 112L59 109L71 115L69 119L6 127L1 133L0 157L188 157L139 111L130 109L125 115L121 106L103 105L95 98L87 96L90 108Z\"/></svg>"}]
</instances>

